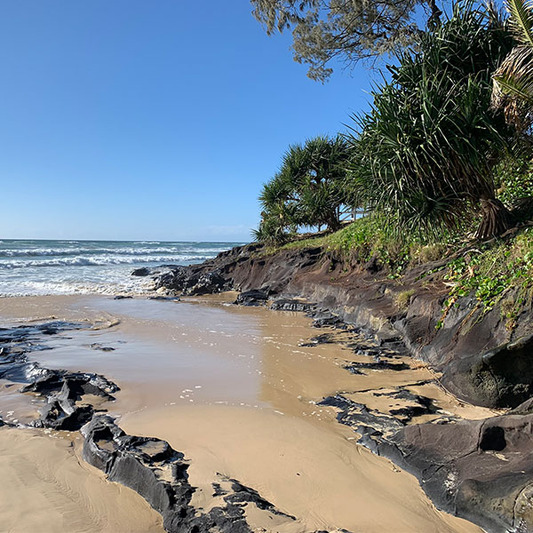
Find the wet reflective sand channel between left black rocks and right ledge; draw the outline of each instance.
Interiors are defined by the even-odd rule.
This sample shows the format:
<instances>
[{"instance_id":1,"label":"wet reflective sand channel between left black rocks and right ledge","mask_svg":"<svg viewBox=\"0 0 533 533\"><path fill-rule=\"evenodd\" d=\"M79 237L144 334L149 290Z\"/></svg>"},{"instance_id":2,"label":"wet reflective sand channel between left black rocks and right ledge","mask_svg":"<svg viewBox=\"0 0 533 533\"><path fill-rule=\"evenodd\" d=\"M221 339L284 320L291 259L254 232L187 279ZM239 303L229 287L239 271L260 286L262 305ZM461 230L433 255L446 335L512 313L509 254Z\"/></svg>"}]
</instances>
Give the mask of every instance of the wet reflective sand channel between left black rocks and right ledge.
<instances>
[{"instance_id":1,"label":"wet reflective sand channel between left black rocks and right ledge","mask_svg":"<svg viewBox=\"0 0 533 533\"><path fill-rule=\"evenodd\" d=\"M126 432L163 438L185 453L199 507L214 505L211 482L223 474L298 518L251 517L267 531L481 531L437 511L413 476L355 444L356 434L338 424L335 410L315 404L343 391L357 402L386 409L397 401L373 393L433 378L423 365L406 359L409 370L351 375L342 365L358 356L345 347L299 346L324 332L311 328L305 316L228 306L226 300L3 298L0 319L12 323L53 316L98 324L97 330L52 338L55 349L33 355L44 366L96 371L121 386L109 406L111 414L120 417ZM434 384L410 390L459 416L492 414L457 402ZM8 395L14 418L16 396ZM19 490L15 506L28 498ZM99 517L96 507L95 513ZM115 529L121 530L134 529Z\"/></svg>"}]
</instances>

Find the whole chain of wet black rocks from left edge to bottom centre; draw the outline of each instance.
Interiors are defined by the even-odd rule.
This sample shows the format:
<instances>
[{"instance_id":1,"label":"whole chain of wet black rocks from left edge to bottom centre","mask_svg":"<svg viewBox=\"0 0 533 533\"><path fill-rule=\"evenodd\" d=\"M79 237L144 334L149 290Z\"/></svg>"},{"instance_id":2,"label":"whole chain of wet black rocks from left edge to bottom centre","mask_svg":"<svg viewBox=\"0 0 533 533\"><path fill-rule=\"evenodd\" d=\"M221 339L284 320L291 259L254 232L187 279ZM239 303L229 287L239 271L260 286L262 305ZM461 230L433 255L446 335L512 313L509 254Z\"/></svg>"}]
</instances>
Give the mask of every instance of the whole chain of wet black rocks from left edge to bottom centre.
<instances>
[{"instance_id":1,"label":"whole chain of wet black rocks from left edge to bottom centre","mask_svg":"<svg viewBox=\"0 0 533 533\"><path fill-rule=\"evenodd\" d=\"M188 481L189 463L182 453L160 439L127 435L113 418L101 414L106 403L115 400L118 386L99 374L51 370L29 361L29 353L52 349L46 344L47 337L81 328L82 324L74 322L47 322L0 329L0 378L20 383L21 394L41 400L38 418L27 426L81 429L84 460L106 473L109 480L144 497L162 514L163 527L169 533L252 533L248 506L284 521L296 520L256 490L221 474L212 482L217 505L208 512L196 508L191 504L195 487ZM0 418L0 427L4 425L12 426Z\"/></svg>"}]
</instances>

